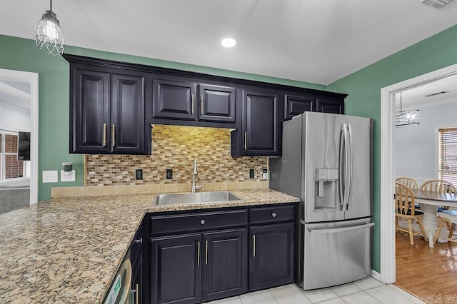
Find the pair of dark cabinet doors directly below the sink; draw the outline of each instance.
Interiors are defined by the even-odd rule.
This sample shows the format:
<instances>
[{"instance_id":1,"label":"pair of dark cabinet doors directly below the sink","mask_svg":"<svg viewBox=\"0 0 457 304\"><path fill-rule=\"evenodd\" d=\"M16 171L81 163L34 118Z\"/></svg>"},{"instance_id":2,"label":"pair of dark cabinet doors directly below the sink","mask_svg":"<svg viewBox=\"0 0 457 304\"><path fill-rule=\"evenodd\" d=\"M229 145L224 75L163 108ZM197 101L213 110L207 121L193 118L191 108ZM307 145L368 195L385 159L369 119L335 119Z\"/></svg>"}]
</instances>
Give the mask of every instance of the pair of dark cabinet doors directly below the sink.
<instances>
[{"instance_id":1,"label":"pair of dark cabinet doors directly below the sink","mask_svg":"<svg viewBox=\"0 0 457 304\"><path fill-rule=\"evenodd\" d=\"M247 248L246 228L151 238L151 303L246 293Z\"/></svg>"}]
</instances>

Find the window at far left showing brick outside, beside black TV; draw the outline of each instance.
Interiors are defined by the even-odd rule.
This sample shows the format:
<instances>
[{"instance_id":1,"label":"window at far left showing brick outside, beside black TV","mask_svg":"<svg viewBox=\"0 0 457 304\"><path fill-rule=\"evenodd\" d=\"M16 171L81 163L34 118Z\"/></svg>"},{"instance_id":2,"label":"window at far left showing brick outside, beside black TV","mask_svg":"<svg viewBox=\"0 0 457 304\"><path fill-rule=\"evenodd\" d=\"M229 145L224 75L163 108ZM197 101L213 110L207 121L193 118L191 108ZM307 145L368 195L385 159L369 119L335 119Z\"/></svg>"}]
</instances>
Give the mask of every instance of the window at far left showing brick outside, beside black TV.
<instances>
[{"instance_id":1,"label":"window at far left showing brick outside, beside black TV","mask_svg":"<svg viewBox=\"0 0 457 304\"><path fill-rule=\"evenodd\" d=\"M18 133L0 130L0 181L24 177L24 161L17 161Z\"/></svg>"}]
</instances>

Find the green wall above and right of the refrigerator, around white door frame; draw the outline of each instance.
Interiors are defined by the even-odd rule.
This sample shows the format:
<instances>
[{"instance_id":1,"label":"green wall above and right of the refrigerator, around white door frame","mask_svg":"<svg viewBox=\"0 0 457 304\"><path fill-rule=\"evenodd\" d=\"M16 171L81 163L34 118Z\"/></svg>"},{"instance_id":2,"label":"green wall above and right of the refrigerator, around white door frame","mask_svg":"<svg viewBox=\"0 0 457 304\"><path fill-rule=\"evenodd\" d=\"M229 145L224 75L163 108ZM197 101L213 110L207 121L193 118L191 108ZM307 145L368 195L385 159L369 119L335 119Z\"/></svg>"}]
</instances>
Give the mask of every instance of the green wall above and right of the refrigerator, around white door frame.
<instances>
[{"instance_id":1,"label":"green wall above and right of the refrigerator, around white door frame","mask_svg":"<svg viewBox=\"0 0 457 304\"><path fill-rule=\"evenodd\" d=\"M346 113L375 120L373 213L377 225L373 238L373 269L376 271L380 270L381 235L381 88L452 64L457 64L457 26L441 31L327 86L328 91L348 94Z\"/></svg>"}]
</instances>

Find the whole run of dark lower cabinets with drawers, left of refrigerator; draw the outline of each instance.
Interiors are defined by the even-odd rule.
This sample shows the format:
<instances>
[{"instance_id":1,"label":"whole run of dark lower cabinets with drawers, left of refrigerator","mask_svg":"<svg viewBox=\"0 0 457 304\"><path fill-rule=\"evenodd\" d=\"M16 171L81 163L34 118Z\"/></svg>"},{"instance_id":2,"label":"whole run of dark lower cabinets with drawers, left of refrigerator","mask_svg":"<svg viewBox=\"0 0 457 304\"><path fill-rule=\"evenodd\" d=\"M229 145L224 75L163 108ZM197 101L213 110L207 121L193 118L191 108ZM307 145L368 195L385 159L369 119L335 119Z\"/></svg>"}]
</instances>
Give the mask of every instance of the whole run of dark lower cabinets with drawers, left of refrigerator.
<instances>
[{"instance_id":1,"label":"whole run of dark lower cabinets with drawers, left of refrigerator","mask_svg":"<svg viewBox=\"0 0 457 304\"><path fill-rule=\"evenodd\" d=\"M278 204L148 216L147 302L201 303L293 283L294 210Z\"/></svg>"}]
</instances>

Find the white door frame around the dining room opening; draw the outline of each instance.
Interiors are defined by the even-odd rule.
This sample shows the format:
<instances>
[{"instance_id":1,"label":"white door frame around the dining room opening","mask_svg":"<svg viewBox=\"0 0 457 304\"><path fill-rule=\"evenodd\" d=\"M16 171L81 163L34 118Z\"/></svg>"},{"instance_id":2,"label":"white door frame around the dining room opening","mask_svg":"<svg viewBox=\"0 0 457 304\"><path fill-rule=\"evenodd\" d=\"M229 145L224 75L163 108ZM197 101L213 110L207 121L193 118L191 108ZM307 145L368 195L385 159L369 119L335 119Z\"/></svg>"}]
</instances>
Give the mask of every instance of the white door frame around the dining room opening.
<instances>
[{"instance_id":1,"label":"white door frame around the dining room opening","mask_svg":"<svg viewBox=\"0 0 457 304\"><path fill-rule=\"evenodd\" d=\"M395 214L391 208L395 182L396 93L457 75L457 64L381 88L381 273L384 283L396 280Z\"/></svg>"}]
</instances>

